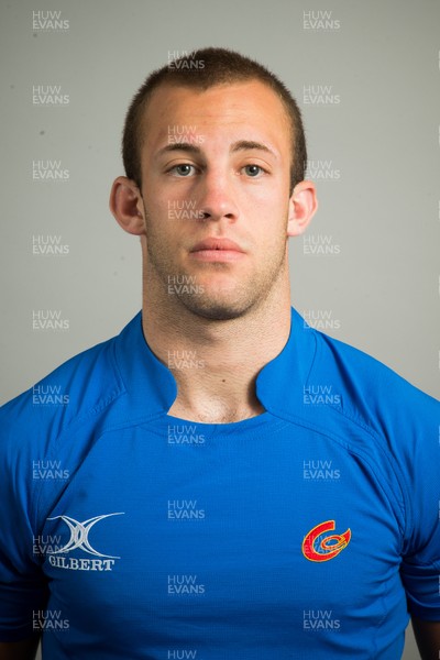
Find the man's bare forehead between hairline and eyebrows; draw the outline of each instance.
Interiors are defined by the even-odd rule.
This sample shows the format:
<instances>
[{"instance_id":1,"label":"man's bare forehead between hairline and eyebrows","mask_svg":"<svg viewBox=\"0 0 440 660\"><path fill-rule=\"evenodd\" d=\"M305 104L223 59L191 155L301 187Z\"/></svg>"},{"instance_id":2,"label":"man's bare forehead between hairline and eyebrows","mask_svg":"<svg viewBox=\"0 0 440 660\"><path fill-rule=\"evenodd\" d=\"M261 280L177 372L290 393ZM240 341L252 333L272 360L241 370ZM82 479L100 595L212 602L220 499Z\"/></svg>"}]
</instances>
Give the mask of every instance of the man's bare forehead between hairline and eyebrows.
<instances>
[{"instance_id":1,"label":"man's bare forehead between hairline and eyebrows","mask_svg":"<svg viewBox=\"0 0 440 660\"><path fill-rule=\"evenodd\" d=\"M197 74L195 74L197 75ZM265 138L290 148L290 122L280 98L264 82L221 84L208 89L164 84L152 94L142 142L155 147L169 132L224 139Z\"/></svg>"}]
</instances>

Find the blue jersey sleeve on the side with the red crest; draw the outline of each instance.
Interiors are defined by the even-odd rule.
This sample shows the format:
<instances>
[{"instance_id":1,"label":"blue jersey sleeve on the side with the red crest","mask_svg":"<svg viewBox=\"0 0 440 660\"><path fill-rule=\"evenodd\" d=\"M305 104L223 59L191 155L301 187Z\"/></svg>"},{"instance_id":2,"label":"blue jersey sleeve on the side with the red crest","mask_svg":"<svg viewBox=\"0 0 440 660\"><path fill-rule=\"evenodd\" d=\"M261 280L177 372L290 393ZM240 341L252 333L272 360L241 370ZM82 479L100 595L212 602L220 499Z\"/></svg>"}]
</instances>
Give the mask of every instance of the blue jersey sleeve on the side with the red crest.
<instances>
[{"instance_id":1,"label":"blue jersey sleeve on the side with the red crest","mask_svg":"<svg viewBox=\"0 0 440 660\"><path fill-rule=\"evenodd\" d=\"M385 364L323 338L337 364L346 415L374 432L376 460L393 472L400 529L400 576L409 614L440 620L440 403ZM329 359L328 350L333 354ZM324 373L329 378L334 374Z\"/></svg>"}]
</instances>

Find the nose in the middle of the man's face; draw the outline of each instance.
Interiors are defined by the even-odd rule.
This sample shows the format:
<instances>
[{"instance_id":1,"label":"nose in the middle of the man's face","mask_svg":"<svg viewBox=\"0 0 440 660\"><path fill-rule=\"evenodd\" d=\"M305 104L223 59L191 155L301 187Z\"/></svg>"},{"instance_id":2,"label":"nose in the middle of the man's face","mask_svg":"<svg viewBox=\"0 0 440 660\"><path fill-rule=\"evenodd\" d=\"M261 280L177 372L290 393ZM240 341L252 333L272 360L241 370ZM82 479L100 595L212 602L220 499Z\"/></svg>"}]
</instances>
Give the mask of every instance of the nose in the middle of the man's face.
<instances>
[{"instance_id":1,"label":"nose in the middle of the man's face","mask_svg":"<svg viewBox=\"0 0 440 660\"><path fill-rule=\"evenodd\" d=\"M232 176L232 175L230 175ZM239 208L234 200L233 182L218 169L205 174L199 189L199 216L202 220L222 220L235 222Z\"/></svg>"}]
</instances>

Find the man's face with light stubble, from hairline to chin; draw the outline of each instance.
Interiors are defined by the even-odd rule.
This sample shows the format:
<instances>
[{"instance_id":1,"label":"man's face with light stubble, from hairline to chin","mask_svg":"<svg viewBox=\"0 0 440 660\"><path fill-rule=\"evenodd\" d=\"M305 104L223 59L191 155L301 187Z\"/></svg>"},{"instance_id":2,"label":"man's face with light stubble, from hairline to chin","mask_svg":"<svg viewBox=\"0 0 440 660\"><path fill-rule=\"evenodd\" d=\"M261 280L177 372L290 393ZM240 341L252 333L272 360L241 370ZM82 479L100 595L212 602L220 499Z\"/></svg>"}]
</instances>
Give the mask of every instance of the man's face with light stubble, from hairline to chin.
<instances>
[{"instance_id":1,"label":"man's face with light stubble, from hairline to chin","mask_svg":"<svg viewBox=\"0 0 440 660\"><path fill-rule=\"evenodd\" d=\"M147 276L205 318L245 314L286 276L292 138L280 100L256 80L163 86L143 130Z\"/></svg>"}]
</instances>

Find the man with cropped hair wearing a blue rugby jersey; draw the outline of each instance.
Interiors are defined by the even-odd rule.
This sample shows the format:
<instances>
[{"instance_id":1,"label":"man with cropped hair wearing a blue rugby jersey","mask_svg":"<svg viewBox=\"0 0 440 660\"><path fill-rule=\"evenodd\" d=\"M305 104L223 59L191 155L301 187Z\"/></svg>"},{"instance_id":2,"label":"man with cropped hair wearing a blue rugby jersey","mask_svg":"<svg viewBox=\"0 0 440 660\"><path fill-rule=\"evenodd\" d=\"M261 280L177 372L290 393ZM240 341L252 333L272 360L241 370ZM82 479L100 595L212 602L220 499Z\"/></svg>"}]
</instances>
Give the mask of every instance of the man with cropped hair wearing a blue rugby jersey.
<instances>
[{"instance_id":1,"label":"man with cropped hair wearing a blue rugby jersey","mask_svg":"<svg viewBox=\"0 0 440 660\"><path fill-rule=\"evenodd\" d=\"M68 405L3 408L0 658L389 660L409 616L437 658L439 406L290 308L317 201L289 92L198 51L123 157L142 314L42 381Z\"/></svg>"}]
</instances>

